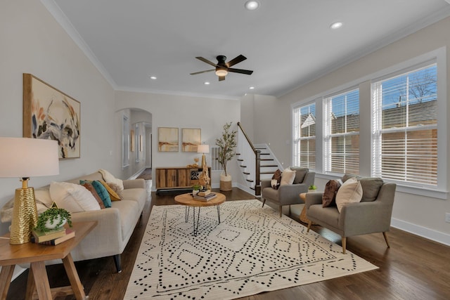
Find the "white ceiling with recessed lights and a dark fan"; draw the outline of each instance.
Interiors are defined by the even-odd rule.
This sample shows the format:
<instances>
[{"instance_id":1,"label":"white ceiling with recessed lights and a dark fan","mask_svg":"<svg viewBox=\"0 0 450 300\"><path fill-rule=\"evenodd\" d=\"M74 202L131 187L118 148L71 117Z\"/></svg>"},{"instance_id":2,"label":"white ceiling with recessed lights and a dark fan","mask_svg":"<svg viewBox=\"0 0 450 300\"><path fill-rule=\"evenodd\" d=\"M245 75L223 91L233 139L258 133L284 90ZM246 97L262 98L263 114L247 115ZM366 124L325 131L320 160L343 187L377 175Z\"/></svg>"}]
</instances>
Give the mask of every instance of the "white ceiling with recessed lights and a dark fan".
<instances>
[{"instance_id":1,"label":"white ceiling with recessed lights and a dark fan","mask_svg":"<svg viewBox=\"0 0 450 300\"><path fill-rule=\"evenodd\" d=\"M114 89L219 98L281 96L445 18L448 1L41 0ZM252 75L190 75L212 69L195 56L239 54Z\"/></svg>"}]
</instances>

